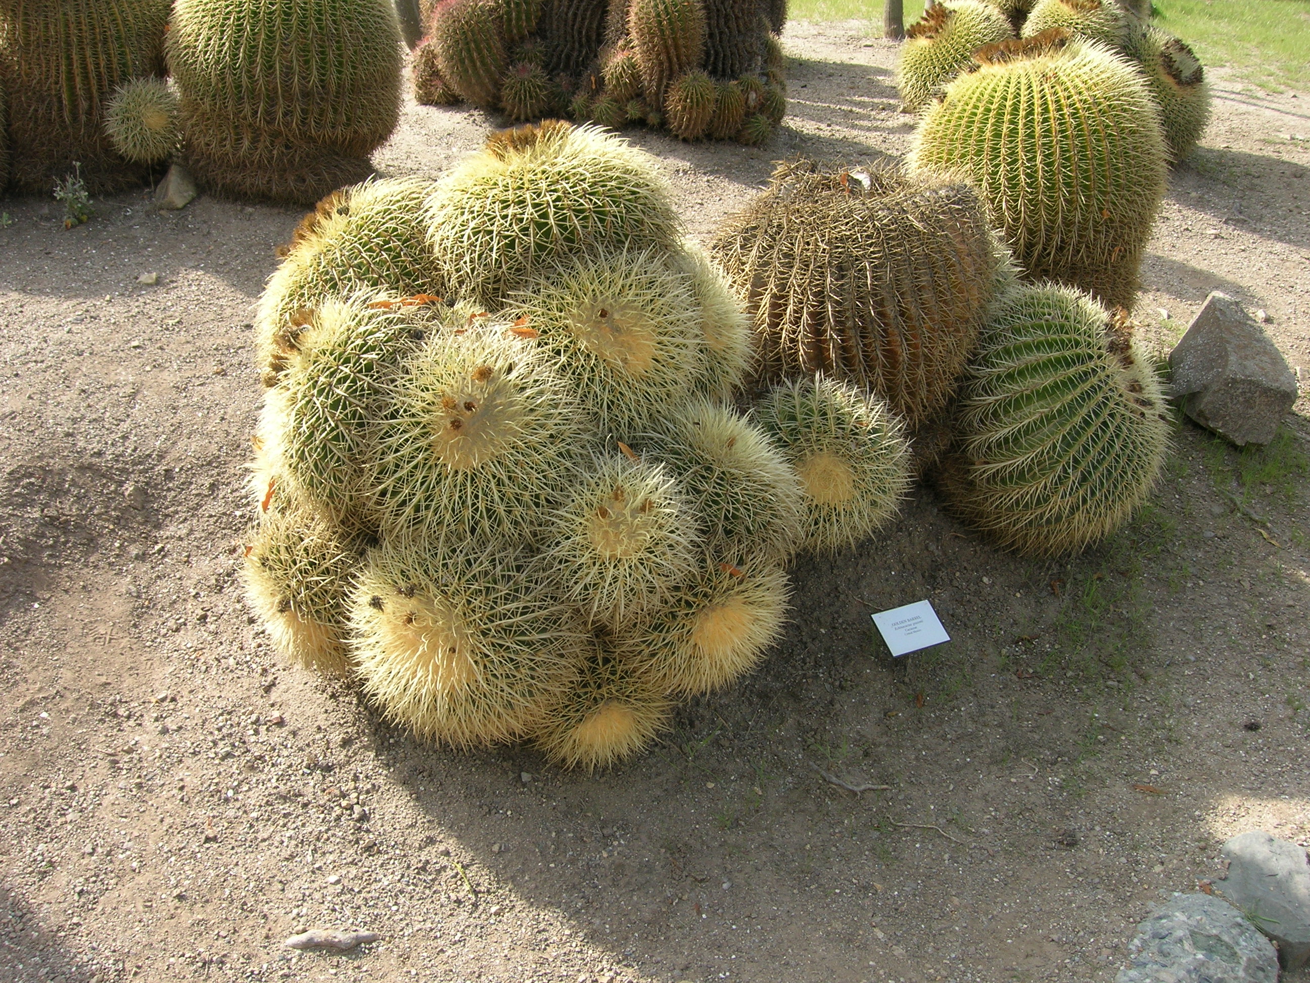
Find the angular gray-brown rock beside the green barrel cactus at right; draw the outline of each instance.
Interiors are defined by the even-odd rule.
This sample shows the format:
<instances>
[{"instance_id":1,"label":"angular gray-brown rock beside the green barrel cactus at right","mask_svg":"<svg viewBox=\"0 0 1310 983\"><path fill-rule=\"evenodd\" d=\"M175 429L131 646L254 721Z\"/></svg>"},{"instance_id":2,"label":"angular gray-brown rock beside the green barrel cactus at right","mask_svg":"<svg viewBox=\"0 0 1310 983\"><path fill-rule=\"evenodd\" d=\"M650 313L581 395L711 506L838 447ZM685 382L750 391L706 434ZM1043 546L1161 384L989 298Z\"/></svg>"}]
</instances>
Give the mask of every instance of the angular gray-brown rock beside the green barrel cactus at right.
<instances>
[{"instance_id":1,"label":"angular gray-brown rock beside the green barrel cactus at right","mask_svg":"<svg viewBox=\"0 0 1310 983\"><path fill-rule=\"evenodd\" d=\"M1297 380L1269 336L1218 291L1169 355L1183 412L1239 447L1267 444L1297 400Z\"/></svg>"}]
</instances>

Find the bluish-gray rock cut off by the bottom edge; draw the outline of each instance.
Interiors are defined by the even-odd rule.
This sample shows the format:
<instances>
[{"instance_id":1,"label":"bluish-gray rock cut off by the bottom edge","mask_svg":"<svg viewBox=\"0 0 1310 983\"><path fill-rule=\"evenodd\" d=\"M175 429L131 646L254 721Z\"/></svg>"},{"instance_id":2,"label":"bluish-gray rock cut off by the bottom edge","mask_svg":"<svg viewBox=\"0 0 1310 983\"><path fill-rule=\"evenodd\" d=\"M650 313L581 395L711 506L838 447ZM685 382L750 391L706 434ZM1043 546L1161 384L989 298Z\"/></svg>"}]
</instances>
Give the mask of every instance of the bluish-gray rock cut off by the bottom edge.
<instances>
[{"instance_id":1,"label":"bluish-gray rock cut off by the bottom edge","mask_svg":"<svg viewBox=\"0 0 1310 983\"><path fill-rule=\"evenodd\" d=\"M1276 983L1279 955L1241 911L1180 894L1137 927L1115 983Z\"/></svg>"}]
</instances>

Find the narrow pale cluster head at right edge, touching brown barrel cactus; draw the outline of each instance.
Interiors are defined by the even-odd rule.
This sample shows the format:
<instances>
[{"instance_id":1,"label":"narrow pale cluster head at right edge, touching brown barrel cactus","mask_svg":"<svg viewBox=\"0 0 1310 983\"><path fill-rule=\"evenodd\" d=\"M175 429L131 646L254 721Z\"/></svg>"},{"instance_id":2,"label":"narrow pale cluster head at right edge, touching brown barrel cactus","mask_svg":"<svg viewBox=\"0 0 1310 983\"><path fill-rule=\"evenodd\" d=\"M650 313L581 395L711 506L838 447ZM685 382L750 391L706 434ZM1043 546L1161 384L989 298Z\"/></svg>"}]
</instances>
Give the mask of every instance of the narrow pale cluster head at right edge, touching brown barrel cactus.
<instances>
[{"instance_id":1,"label":"narrow pale cluster head at right edge, touching brown barrel cactus","mask_svg":"<svg viewBox=\"0 0 1310 983\"><path fill-rule=\"evenodd\" d=\"M692 278L692 294L701 311L703 370L694 388L702 396L731 401L752 367L751 318L727 274L700 245L684 240L671 261L673 269Z\"/></svg>"}]
</instances>

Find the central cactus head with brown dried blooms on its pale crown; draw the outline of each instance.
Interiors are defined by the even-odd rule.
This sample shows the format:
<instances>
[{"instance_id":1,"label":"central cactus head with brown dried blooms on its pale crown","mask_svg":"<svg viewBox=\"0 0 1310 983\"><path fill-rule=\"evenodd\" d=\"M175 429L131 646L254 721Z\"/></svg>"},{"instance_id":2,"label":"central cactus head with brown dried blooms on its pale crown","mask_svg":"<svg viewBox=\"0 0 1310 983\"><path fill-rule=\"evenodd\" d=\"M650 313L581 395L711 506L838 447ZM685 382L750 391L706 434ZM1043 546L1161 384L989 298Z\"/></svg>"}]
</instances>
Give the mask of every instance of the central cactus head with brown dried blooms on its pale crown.
<instances>
[{"instance_id":1,"label":"central cactus head with brown dried blooms on its pale crown","mask_svg":"<svg viewBox=\"0 0 1310 983\"><path fill-rule=\"evenodd\" d=\"M430 334L394 385L375 438L384 532L533 543L571 489L583 434L575 398L521 328L479 321Z\"/></svg>"}]
</instances>

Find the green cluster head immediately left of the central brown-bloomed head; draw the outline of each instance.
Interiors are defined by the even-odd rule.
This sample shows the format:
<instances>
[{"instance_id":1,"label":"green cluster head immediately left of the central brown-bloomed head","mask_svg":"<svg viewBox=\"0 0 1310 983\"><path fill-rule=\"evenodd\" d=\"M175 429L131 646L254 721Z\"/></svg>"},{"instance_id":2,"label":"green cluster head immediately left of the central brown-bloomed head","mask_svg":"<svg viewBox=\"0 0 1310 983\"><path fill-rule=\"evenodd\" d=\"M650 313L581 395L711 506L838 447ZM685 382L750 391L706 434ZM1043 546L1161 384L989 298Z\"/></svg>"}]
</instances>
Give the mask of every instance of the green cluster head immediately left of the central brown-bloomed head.
<instances>
[{"instance_id":1,"label":"green cluster head immediately left of the central brown-bloomed head","mask_svg":"<svg viewBox=\"0 0 1310 983\"><path fill-rule=\"evenodd\" d=\"M280 452L291 484L351 528L376 524L368 494L371 431L400 363L415 347L409 320L369 307L368 296L321 304L266 397L283 421Z\"/></svg>"}]
</instances>

